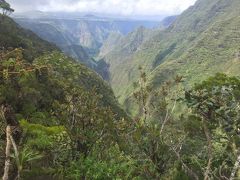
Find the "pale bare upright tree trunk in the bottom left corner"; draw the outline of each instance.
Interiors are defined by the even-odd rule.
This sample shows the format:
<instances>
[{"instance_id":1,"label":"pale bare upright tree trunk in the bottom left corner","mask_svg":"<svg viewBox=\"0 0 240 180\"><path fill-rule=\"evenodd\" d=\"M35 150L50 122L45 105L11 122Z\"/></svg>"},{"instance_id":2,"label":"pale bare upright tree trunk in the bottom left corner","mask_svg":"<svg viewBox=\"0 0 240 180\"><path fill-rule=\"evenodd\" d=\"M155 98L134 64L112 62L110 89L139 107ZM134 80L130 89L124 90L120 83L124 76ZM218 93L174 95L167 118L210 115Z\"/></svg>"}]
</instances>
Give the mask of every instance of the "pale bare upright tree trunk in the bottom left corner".
<instances>
[{"instance_id":1,"label":"pale bare upright tree trunk in the bottom left corner","mask_svg":"<svg viewBox=\"0 0 240 180\"><path fill-rule=\"evenodd\" d=\"M6 159L5 159L5 167L4 167L4 174L2 179L3 180L9 180L9 169L10 169L10 151L11 151L11 139L10 139L10 135L11 135L11 126L7 126L6 128L6 151L5 151L5 155L6 155Z\"/></svg>"}]
</instances>

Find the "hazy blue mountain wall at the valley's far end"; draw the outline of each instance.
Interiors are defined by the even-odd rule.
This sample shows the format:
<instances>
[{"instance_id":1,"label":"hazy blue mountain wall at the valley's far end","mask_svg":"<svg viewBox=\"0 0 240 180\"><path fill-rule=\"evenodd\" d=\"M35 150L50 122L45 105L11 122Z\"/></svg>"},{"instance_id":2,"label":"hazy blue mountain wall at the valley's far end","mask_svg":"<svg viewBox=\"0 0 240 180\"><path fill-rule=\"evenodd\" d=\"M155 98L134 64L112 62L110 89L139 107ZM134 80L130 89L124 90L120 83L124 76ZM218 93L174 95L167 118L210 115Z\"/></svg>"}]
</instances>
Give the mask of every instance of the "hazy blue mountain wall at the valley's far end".
<instances>
[{"instance_id":1,"label":"hazy blue mountain wall at the valley's far end","mask_svg":"<svg viewBox=\"0 0 240 180\"><path fill-rule=\"evenodd\" d=\"M39 32L37 27L42 24L45 24L45 26L49 24L55 29L60 30L71 44L81 45L86 49L94 51L94 53L96 53L97 49L111 32L120 32L126 35L140 25L154 27L158 23L154 21L92 19L86 17L72 20L54 19L54 17L51 16L44 18L38 17L35 19L14 16L14 19L23 27L39 34L43 39L48 39L48 36L42 34L41 31ZM57 43L55 39L51 41Z\"/></svg>"}]
</instances>

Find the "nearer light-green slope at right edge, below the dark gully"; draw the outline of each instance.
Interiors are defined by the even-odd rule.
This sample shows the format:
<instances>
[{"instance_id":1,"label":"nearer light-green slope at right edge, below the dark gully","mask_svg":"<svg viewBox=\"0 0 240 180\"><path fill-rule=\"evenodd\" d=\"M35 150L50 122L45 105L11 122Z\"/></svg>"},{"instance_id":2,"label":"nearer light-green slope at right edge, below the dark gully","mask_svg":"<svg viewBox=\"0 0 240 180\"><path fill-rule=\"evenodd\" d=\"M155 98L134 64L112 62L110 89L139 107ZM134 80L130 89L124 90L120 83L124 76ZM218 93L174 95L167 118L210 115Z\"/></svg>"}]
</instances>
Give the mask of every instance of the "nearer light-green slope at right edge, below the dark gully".
<instances>
[{"instance_id":1,"label":"nearer light-green slope at right edge, below the dark gully","mask_svg":"<svg viewBox=\"0 0 240 180\"><path fill-rule=\"evenodd\" d=\"M153 84L159 82L162 70L183 75L188 84L194 84L217 72L240 75L239 17L216 22L181 57L157 67L151 75Z\"/></svg>"}]
</instances>

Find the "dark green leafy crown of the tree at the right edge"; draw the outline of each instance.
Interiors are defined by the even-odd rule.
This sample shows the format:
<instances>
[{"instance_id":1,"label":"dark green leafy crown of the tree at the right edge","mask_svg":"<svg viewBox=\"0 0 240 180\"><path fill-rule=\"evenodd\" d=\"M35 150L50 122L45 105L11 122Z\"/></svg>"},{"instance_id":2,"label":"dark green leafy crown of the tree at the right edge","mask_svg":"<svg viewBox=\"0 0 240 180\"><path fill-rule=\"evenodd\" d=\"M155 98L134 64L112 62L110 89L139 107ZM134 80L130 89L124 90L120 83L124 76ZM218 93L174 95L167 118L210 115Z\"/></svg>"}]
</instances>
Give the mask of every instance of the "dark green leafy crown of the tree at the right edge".
<instances>
[{"instance_id":1,"label":"dark green leafy crown of the tree at the right edge","mask_svg":"<svg viewBox=\"0 0 240 180\"><path fill-rule=\"evenodd\" d=\"M216 74L186 92L188 105L200 116L216 126L219 123L229 133L238 132L240 80Z\"/></svg>"}]
</instances>

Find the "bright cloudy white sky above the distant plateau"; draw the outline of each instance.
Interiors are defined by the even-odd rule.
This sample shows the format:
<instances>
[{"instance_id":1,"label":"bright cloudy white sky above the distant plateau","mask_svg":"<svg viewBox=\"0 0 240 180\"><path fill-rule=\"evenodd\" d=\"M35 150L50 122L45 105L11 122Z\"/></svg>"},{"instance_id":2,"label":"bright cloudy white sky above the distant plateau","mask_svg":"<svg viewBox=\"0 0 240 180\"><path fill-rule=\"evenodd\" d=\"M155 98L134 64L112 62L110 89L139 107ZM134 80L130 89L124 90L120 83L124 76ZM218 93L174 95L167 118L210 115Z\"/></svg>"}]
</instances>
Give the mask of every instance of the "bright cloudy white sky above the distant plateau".
<instances>
[{"instance_id":1,"label":"bright cloudy white sky above the distant plateau","mask_svg":"<svg viewBox=\"0 0 240 180\"><path fill-rule=\"evenodd\" d=\"M65 11L117 15L179 14L196 0L7 0L16 12Z\"/></svg>"}]
</instances>

